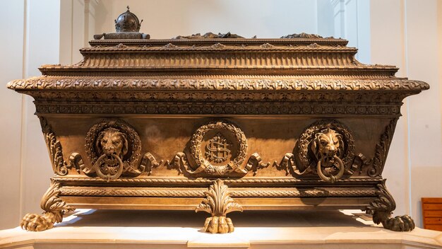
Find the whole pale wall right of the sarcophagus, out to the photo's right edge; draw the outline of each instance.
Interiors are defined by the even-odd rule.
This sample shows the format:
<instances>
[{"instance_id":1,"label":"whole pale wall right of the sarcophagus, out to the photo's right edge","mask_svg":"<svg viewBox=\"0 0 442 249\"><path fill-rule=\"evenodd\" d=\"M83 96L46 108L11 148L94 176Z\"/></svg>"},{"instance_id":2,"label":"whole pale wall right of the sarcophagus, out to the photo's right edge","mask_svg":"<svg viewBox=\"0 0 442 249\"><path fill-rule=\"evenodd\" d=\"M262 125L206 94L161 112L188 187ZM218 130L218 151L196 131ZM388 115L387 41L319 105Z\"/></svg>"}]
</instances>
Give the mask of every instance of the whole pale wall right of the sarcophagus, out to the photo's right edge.
<instances>
[{"instance_id":1,"label":"whole pale wall right of the sarcophagus, out to the photo's right edge","mask_svg":"<svg viewBox=\"0 0 442 249\"><path fill-rule=\"evenodd\" d=\"M441 5L437 0L371 1L372 62L400 66L399 76L431 86L405 100L385 174L394 179L388 187L398 209L405 207L418 226L420 199L442 197Z\"/></svg>"}]
</instances>

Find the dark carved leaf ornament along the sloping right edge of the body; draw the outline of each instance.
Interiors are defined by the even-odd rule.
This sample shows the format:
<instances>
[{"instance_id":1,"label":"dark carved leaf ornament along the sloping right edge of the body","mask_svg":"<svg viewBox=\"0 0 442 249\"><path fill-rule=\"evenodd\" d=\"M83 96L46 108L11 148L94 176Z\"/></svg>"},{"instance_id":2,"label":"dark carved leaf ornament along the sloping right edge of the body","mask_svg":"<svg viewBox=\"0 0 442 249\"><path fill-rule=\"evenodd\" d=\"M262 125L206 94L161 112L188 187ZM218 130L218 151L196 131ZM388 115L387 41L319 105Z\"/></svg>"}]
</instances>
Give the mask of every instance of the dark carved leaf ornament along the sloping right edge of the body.
<instances>
[{"instance_id":1,"label":"dark carved leaf ornament along the sloping right edge of the body","mask_svg":"<svg viewBox=\"0 0 442 249\"><path fill-rule=\"evenodd\" d=\"M387 125L385 132L381 135L381 141L376 144L376 151L373 158L373 167L369 168L367 174L371 177L381 175L383 166L386 164L386 158L388 155L388 149L390 148L391 141L393 140L393 134L395 133L396 123L398 118L394 118Z\"/></svg>"}]
</instances>

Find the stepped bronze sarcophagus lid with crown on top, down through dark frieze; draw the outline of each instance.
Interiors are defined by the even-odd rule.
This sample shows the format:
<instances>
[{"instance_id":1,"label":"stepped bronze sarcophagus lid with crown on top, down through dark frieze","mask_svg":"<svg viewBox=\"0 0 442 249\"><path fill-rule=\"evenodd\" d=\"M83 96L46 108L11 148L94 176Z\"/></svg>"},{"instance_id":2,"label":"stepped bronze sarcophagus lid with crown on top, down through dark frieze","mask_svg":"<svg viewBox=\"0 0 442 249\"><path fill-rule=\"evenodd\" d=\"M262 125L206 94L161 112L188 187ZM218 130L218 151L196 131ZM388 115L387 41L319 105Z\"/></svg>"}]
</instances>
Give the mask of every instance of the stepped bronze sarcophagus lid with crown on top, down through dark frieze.
<instances>
[{"instance_id":1,"label":"stepped bronze sarcophagus lid with crown on top, down through dark frieze","mask_svg":"<svg viewBox=\"0 0 442 249\"><path fill-rule=\"evenodd\" d=\"M157 40L138 33L141 22L128 7L115 21L117 33L95 35L90 47L80 50L81 62L43 65L42 76L11 81L8 88L32 95L37 102L53 98L66 103L202 101L209 106L129 108L129 111L238 115L399 115L398 107L334 108L326 104L311 108L305 104L397 104L407 95L429 88L422 81L395 77L398 71L395 66L358 62L354 58L357 49L347 47L347 40L306 33L277 39L206 33ZM227 105L215 108L222 102L245 104L239 108ZM290 108L287 103L305 106ZM115 107L95 110L100 114L126 112ZM83 108L42 105L38 108L37 105L37 113L40 112L79 113Z\"/></svg>"}]
</instances>

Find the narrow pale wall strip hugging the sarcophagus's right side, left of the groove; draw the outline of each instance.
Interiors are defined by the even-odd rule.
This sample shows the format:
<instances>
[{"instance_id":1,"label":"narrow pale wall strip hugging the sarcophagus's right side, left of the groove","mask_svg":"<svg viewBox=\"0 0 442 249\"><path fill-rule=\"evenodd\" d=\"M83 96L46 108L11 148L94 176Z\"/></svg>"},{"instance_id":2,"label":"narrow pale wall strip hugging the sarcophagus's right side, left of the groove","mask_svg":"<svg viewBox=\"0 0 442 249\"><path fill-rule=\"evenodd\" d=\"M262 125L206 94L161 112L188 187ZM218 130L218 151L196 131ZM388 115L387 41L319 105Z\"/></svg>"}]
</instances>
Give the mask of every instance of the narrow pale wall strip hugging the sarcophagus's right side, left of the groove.
<instances>
[{"instance_id":1,"label":"narrow pale wall strip hugging the sarcophagus's right side, left of the groove","mask_svg":"<svg viewBox=\"0 0 442 249\"><path fill-rule=\"evenodd\" d=\"M371 62L398 66L400 70L396 75L402 77L407 75L403 23L401 0L371 1ZM407 106L407 100L405 100L405 105L401 108L402 117L396 125L395 136L383 173L383 176L388 179L387 187L395 197L398 206L395 211L397 215L410 214Z\"/></svg>"}]
</instances>

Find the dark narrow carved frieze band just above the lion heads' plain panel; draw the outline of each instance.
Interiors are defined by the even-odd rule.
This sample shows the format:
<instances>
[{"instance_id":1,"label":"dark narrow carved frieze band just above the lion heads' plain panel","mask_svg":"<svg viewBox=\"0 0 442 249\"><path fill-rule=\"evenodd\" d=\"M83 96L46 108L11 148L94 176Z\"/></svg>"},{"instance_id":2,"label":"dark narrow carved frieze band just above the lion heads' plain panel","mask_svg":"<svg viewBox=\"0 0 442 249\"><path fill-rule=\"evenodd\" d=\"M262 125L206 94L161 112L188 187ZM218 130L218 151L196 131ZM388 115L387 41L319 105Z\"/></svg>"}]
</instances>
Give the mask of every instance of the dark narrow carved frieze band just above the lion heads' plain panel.
<instances>
[{"instance_id":1,"label":"dark narrow carved frieze band just above the lion heads' plain panel","mask_svg":"<svg viewBox=\"0 0 442 249\"><path fill-rule=\"evenodd\" d=\"M400 115L400 105L316 105L290 103L146 103L97 104L35 103L37 113L51 114L230 114L230 115Z\"/></svg>"}]
</instances>

